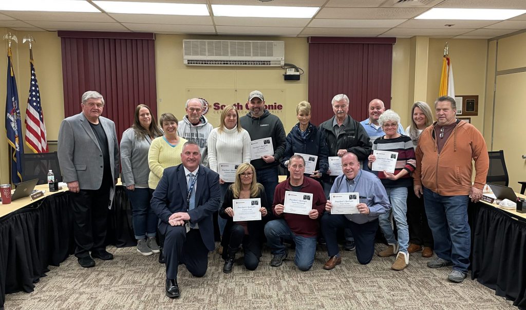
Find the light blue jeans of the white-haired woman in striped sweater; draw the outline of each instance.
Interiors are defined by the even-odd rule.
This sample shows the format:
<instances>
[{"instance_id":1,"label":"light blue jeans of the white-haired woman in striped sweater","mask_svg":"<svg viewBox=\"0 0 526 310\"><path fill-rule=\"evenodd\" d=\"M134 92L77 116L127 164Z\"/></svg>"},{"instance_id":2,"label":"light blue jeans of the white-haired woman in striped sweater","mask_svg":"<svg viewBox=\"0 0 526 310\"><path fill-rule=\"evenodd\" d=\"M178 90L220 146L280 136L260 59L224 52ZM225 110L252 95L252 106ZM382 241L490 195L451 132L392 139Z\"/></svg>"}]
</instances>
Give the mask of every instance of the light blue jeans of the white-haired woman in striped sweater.
<instances>
[{"instance_id":1,"label":"light blue jeans of the white-haired woman in striped sweater","mask_svg":"<svg viewBox=\"0 0 526 310\"><path fill-rule=\"evenodd\" d=\"M398 231L399 251L407 253L409 246L409 226L407 225L407 187L386 188L387 195L391 201L392 208L385 214L380 214L380 229L387 243L397 244L393 226L391 223L391 213L395 218Z\"/></svg>"}]
</instances>

